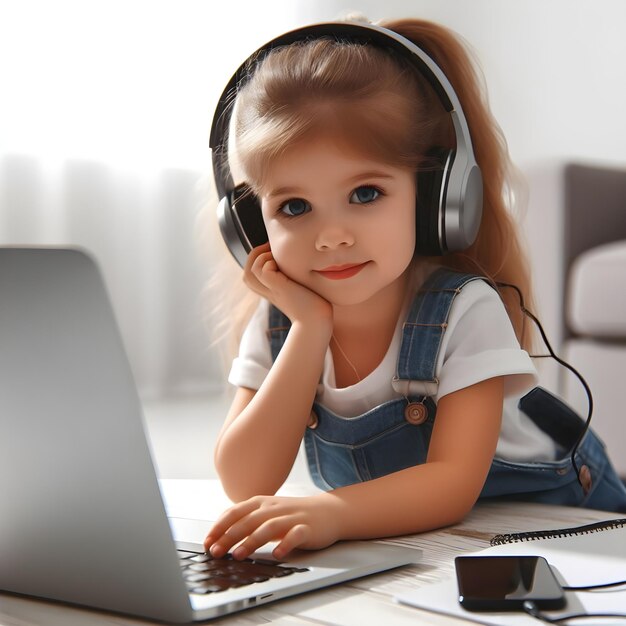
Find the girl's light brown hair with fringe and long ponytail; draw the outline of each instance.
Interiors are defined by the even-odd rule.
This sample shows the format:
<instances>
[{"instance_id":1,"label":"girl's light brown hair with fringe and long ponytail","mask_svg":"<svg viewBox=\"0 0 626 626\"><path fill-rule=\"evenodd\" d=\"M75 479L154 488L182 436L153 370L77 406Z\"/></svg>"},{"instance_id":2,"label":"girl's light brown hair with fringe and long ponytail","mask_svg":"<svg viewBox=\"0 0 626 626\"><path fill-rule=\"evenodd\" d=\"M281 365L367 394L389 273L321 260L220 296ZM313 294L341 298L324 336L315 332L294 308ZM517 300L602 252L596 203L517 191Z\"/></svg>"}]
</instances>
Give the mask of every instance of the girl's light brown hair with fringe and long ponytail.
<instances>
[{"instance_id":1,"label":"girl's light brown hair with fringe and long ponytail","mask_svg":"<svg viewBox=\"0 0 626 626\"><path fill-rule=\"evenodd\" d=\"M483 174L483 216L475 243L432 260L482 274L494 284L513 283L532 306L528 263L511 213L520 199L520 178L471 54L455 33L432 22L380 25L413 41L446 74ZM236 104L230 144L234 140L237 163L255 193L262 190L273 159L314 134L415 171L433 167L426 156L433 146L454 147L450 116L426 80L407 61L372 45L322 38L276 48L252 59ZM520 343L529 348L516 294L502 290L501 296Z\"/></svg>"}]
</instances>

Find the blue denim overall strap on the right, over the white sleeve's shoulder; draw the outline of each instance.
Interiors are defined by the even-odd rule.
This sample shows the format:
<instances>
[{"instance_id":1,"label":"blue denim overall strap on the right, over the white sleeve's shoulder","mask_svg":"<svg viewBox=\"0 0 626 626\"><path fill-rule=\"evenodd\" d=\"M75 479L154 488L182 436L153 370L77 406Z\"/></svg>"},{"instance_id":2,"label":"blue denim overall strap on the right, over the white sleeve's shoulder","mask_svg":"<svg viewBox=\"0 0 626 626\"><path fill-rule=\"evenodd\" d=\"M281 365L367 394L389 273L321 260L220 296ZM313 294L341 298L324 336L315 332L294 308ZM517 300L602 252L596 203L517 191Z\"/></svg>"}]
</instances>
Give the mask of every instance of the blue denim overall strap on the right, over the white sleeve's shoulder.
<instances>
[{"instance_id":1,"label":"blue denim overall strap on the right, over the white sleeve's shoulder","mask_svg":"<svg viewBox=\"0 0 626 626\"><path fill-rule=\"evenodd\" d=\"M461 289L474 280L486 279L439 268L417 292L402 327L402 343L392 382L396 392L427 397L437 393L437 359L452 303Z\"/></svg>"}]
</instances>

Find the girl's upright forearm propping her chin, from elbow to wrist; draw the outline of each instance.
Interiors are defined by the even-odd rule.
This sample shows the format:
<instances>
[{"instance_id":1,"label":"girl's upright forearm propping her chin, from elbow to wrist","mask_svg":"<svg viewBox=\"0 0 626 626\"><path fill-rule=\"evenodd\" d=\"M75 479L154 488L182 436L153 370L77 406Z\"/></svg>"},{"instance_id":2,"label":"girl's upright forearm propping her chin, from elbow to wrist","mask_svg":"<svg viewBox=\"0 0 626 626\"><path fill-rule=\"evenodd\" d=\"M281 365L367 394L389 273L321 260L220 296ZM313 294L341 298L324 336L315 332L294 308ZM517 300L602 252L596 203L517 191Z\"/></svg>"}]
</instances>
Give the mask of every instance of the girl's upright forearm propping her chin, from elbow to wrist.
<instances>
[{"instance_id":1,"label":"girl's upright forearm propping her chin, from elbow to wrist","mask_svg":"<svg viewBox=\"0 0 626 626\"><path fill-rule=\"evenodd\" d=\"M229 422L215 450L234 500L271 494L288 476L310 416L330 340L326 324L294 323L261 388Z\"/></svg>"}]
</instances>

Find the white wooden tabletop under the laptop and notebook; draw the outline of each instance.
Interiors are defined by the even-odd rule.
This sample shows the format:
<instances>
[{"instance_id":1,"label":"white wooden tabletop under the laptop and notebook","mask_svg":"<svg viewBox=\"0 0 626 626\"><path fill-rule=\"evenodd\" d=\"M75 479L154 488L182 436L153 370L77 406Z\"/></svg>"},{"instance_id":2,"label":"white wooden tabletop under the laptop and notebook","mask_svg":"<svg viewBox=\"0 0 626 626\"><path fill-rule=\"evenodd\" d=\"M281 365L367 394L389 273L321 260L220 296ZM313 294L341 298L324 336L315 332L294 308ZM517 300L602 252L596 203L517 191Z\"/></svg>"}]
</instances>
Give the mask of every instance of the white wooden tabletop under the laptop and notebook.
<instances>
[{"instance_id":1,"label":"white wooden tabletop under the laptop and notebook","mask_svg":"<svg viewBox=\"0 0 626 626\"><path fill-rule=\"evenodd\" d=\"M228 505L215 480L169 479L161 481L168 515L214 519ZM287 485L284 495L304 495L309 485ZM429 585L454 573L454 557L478 550L502 532L562 528L615 517L601 511L524 503L479 504L461 523L441 530L386 540L419 547L419 565L354 580L320 591L282 600L210 622L220 626L434 626L468 622L420 611L393 601L396 593ZM208 528L207 524L207 528ZM120 617L38 600L0 595L0 626L123 626L148 624Z\"/></svg>"}]
</instances>

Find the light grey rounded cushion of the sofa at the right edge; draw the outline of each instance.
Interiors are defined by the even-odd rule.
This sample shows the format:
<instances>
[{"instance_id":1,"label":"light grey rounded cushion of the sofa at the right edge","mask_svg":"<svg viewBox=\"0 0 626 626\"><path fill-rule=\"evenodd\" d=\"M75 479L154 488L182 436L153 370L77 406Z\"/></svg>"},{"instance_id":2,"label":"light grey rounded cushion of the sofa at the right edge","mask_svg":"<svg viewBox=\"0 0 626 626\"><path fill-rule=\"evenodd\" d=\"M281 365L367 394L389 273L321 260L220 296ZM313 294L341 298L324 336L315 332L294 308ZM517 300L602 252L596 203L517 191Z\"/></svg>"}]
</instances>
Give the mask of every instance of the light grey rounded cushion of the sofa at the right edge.
<instances>
[{"instance_id":1,"label":"light grey rounded cushion of the sofa at the right edge","mask_svg":"<svg viewBox=\"0 0 626 626\"><path fill-rule=\"evenodd\" d=\"M626 241L587 250L568 281L567 321L587 337L626 338Z\"/></svg>"}]
</instances>

